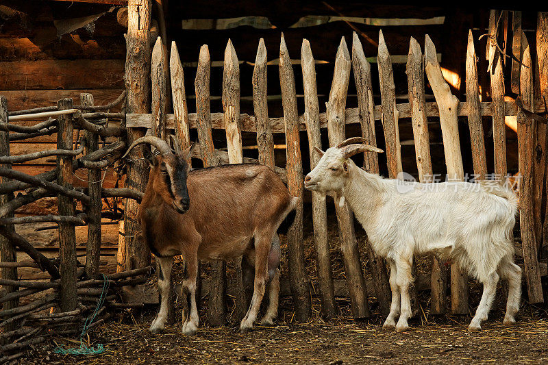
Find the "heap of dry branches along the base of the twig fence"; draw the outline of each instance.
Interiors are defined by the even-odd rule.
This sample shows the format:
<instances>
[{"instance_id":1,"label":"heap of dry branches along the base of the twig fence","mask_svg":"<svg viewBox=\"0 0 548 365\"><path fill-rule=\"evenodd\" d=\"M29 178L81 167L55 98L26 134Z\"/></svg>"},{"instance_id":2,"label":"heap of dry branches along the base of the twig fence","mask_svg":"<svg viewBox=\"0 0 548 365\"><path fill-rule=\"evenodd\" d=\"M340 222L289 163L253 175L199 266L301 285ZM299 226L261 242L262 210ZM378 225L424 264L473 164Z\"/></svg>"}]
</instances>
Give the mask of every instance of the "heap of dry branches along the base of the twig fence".
<instances>
[{"instance_id":1,"label":"heap of dry branches along the base of the twig fence","mask_svg":"<svg viewBox=\"0 0 548 365\"><path fill-rule=\"evenodd\" d=\"M82 333L86 318L92 315L95 319L91 324L88 323L86 329L104 323L114 310L142 307L142 303L123 303L121 290L124 286L145 283L152 271L153 267L147 266L104 275L103 279L82 279L77 284L77 307L69 312L55 312L59 304L58 279L47 282L0 279L1 285L20 288L15 292L2 294L0 303L30 294L41 294L30 303L0 311L0 331L10 323L18 323L17 329L0 333L0 364L23 356L29 346L45 342L52 336ZM97 303L102 305L97 307Z\"/></svg>"}]
</instances>

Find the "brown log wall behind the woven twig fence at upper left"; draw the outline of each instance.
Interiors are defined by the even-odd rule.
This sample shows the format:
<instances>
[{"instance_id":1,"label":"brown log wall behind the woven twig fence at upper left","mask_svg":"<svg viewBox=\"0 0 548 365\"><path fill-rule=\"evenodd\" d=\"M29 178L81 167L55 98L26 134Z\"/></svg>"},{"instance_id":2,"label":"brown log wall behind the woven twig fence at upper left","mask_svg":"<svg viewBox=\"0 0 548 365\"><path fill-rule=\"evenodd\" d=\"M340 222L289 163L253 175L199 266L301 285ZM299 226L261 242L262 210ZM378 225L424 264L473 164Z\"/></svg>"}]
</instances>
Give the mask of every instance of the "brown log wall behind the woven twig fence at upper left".
<instances>
[{"instance_id":1,"label":"brown log wall behind the woven twig fence at upper left","mask_svg":"<svg viewBox=\"0 0 548 365\"><path fill-rule=\"evenodd\" d=\"M116 99L124 88L126 32L117 21L118 9L111 4L3 1L0 94L7 98L8 110L55 105L65 97L77 105L82 92L92 93L96 105ZM119 111L119 107L111 110ZM17 123L34 125L36 121ZM10 147L12 155L18 155L55 149L55 143L53 134L12 141ZM54 167L55 157L14 164L14 169L30 175ZM75 175L75 186L87 185L84 171ZM104 187L112 188L115 181L112 170L108 171ZM36 209L48 208L42 204Z\"/></svg>"}]
</instances>

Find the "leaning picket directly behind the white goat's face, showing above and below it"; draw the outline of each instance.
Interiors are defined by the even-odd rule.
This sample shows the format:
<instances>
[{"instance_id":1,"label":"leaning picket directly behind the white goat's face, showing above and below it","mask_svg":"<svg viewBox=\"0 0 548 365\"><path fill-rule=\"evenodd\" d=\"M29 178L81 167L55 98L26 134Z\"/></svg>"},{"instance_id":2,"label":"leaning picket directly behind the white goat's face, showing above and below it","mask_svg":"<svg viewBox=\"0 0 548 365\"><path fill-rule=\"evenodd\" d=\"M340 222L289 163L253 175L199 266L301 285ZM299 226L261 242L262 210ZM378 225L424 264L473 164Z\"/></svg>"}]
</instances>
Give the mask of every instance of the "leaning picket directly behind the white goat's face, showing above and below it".
<instances>
[{"instance_id":1,"label":"leaning picket directly behind the white goat's face, showing above and below it","mask_svg":"<svg viewBox=\"0 0 548 365\"><path fill-rule=\"evenodd\" d=\"M325 105L327 135L330 147L336 146L345 140L345 107L350 81L350 63L350 54L343 37L340 40L335 58L335 70L333 72L331 90L329 91L329 101ZM340 245L347 273L347 286L352 305L352 315L354 318L366 318L371 316L371 312L369 312L369 303L367 303L367 292L362 273L360 253L358 251L358 242L354 231L353 214L347 203L340 205L338 197L335 197L335 210L340 232Z\"/></svg>"}]
</instances>

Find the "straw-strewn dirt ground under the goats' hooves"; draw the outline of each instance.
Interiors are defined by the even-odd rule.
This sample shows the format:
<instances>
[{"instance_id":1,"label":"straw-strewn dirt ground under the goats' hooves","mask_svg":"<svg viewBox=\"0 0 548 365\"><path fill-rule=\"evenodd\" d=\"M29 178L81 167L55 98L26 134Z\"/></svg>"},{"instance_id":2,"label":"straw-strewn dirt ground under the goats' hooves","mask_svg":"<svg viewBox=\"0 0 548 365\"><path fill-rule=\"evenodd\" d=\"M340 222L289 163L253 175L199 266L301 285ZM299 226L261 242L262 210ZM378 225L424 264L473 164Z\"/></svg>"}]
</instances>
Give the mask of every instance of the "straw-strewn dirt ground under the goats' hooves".
<instances>
[{"instance_id":1,"label":"straw-strewn dirt ground under the goats' hooves","mask_svg":"<svg viewBox=\"0 0 548 365\"><path fill-rule=\"evenodd\" d=\"M529 308L530 309L530 308ZM522 310L523 312L523 310ZM256 327L242 335L237 327L201 326L193 337L180 332L180 323L164 333L148 331L154 313L136 324L109 323L90 333L91 344L105 352L92 356L53 353L57 344L78 347L75 341L55 339L29 351L20 364L543 364L548 362L548 320L522 313L519 324L501 325L495 313L480 332L466 330L469 317L412 320L411 329L396 333L381 328L375 317L361 323L336 319L324 323L290 323L284 312L277 327ZM537 313L538 314L538 313ZM127 322L127 318L125 322ZM493 318L494 317L494 318ZM287 318L288 320L284 319ZM536 318L536 319L535 319ZM422 323L421 323L422 322Z\"/></svg>"}]
</instances>

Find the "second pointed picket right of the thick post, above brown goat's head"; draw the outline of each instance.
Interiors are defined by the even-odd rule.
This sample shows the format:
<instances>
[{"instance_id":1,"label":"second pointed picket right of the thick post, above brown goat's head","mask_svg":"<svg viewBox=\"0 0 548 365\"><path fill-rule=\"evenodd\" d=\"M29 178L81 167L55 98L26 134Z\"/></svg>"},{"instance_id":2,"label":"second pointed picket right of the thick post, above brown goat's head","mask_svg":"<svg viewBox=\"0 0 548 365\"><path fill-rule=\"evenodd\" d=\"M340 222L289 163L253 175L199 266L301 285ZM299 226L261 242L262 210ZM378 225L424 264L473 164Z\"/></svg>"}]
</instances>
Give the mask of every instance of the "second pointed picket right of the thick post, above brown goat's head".
<instances>
[{"instance_id":1,"label":"second pointed picket right of the thick post, above brown goat's head","mask_svg":"<svg viewBox=\"0 0 548 365\"><path fill-rule=\"evenodd\" d=\"M184 71L179 58L179 50L175 42L171 42L169 59L169 71L171 75L171 98L173 100L173 117L175 123L175 138L182 149L190 147L190 123L188 121L188 107L186 105L186 92L184 89ZM192 159L188 159L191 164Z\"/></svg>"}]
</instances>

